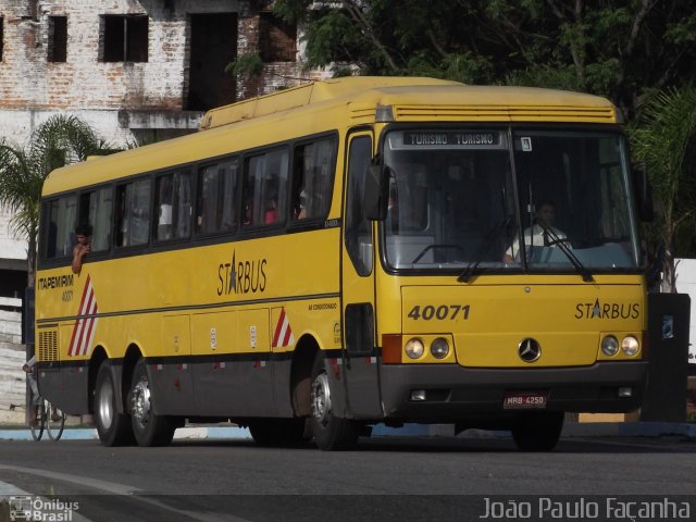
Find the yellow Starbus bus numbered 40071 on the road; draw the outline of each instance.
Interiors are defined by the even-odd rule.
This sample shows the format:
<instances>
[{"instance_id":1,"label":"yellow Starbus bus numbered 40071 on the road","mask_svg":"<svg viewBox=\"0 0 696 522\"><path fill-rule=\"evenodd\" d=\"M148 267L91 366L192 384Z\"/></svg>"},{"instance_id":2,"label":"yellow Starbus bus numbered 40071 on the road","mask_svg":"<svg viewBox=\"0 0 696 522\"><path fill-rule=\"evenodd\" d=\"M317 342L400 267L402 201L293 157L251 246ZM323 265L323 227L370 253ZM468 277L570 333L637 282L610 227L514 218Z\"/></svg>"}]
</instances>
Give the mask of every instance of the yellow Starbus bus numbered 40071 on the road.
<instances>
[{"instance_id":1,"label":"yellow Starbus bus numbered 40071 on the road","mask_svg":"<svg viewBox=\"0 0 696 522\"><path fill-rule=\"evenodd\" d=\"M552 449L564 412L642 400L649 208L620 124L588 95L351 77L59 169L41 393L107 446L188 420L325 450L378 423Z\"/></svg>"}]
</instances>

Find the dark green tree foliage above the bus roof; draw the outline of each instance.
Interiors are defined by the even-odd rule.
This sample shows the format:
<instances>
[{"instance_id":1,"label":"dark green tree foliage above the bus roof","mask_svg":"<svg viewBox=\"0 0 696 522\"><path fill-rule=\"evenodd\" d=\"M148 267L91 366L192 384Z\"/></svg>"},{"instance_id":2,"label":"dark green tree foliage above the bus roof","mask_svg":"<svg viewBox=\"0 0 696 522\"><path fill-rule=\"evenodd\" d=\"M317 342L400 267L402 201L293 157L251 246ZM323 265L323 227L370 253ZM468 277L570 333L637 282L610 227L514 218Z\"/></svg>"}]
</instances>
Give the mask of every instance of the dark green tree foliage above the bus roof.
<instances>
[{"instance_id":1,"label":"dark green tree foliage above the bus roof","mask_svg":"<svg viewBox=\"0 0 696 522\"><path fill-rule=\"evenodd\" d=\"M304 29L307 65L345 74L606 96L633 117L647 94L693 78L696 3L685 0L275 0Z\"/></svg>"}]
</instances>

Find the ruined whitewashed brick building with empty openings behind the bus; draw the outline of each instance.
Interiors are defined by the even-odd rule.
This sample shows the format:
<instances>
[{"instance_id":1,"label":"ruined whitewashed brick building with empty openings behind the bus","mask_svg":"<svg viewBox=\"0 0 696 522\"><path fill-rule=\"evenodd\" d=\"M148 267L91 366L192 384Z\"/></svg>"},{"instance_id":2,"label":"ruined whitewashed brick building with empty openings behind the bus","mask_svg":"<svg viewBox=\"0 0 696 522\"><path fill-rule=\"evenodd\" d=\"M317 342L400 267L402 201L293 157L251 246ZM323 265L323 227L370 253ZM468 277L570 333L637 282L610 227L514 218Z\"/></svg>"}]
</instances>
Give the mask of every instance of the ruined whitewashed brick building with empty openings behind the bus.
<instances>
[{"instance_id":1,"label":"ruined whitewashed brick building with empty openings behind the bus","mask_svg":"<svg viewBox=\"0 0 696 522\"><path fill-rule=\"evenodd\" d=\"M62 113L115 146L142 144L195 132L212 107L297 85L310 76L298 30L271 3L0 0L0 136L21 144ZM263 62L260 77L225 73L253 52ZM0 249L0 296L13 296L25 276L14 273L17 247L2 210Z\"/></svg>"}]
</instances>

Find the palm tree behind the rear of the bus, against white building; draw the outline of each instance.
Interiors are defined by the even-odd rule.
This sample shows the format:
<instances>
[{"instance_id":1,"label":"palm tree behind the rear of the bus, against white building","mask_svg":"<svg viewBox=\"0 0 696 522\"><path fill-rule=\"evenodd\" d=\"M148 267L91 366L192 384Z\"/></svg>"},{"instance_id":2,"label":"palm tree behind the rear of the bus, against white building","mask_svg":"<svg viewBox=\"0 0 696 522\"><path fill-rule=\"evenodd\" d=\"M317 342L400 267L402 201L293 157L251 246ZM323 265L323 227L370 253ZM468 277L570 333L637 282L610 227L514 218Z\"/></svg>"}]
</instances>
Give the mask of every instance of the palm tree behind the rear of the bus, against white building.
<instances>
[{"instance_id":1,"label":"palm tree behind the rear of the bus, against white building","mask_svg":"<svg viewBox=\"0 0 696 522\"><path fill-rule=\"evenodd\" d=\"M27 285L34 287L39 203L46 176L90 154L113 152L83 120L55 115L37 126L22 147L0 138L0 206L14 213L12 232L27 239Z\"/></svg>"}]
</instances>

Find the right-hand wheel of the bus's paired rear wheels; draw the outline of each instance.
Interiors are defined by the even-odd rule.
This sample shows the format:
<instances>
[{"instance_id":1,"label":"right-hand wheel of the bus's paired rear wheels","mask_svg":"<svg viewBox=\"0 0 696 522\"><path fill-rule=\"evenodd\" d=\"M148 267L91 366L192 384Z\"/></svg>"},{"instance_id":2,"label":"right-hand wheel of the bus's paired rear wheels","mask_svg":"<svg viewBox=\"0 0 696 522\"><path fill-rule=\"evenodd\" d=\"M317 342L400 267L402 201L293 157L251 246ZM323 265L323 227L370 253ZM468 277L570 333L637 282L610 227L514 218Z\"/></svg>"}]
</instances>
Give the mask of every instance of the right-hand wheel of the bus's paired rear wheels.
<instances>
[{"instance_id":1,"label":"right-hand wheel of the bus's paired rear wheels","mask_svg":"<svg viewBox=\"0 0 696 522\"><path fill-rule=\"evenodd\" d=\"M174 438L176 424L169 417L156 414L152 405L152 388L145 360L140 359L133 369L128 391L128 412L138 446L166 446Z\"/></svg>"}]
</instances>

